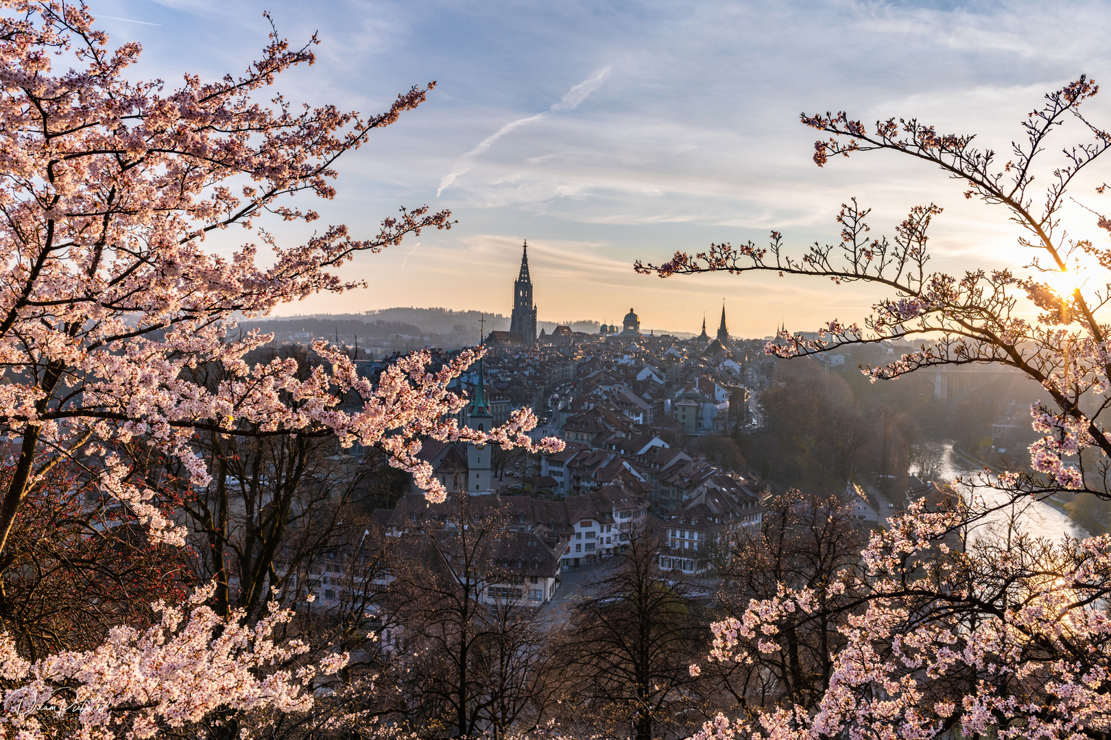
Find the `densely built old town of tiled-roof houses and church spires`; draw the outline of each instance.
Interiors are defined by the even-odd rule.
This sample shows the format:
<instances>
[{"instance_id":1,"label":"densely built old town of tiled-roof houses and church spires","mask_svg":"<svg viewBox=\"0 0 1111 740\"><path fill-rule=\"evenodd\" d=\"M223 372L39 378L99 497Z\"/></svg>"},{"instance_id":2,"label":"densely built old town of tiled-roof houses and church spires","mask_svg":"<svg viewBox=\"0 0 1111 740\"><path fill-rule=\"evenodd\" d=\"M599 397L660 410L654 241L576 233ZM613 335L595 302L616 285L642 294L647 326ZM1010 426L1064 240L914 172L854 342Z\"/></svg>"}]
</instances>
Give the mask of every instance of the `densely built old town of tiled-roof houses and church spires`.
<instances>
[{"instance_id":1,"label":"densely built old town of tiled-roof houses and church spires","mask_svg":"<svg viewBox=\"0 0 1111 740\"><path fill-rule=\"evenodd\" d=\"M392 507L374 509L374 526L410 538L406 549L440 560L458 579L452 533L496 521L490 556L499 575L477 597L487 602L543 607L564 575L604 566L633 528L662 533L664 571L712 577L717 557L728 557L719 545L739 527L759 526L771 495L749 469L703 452L708 439L763 425L755 399L774 369L764 341L730 337L724 307L715 335L703 321L701 334L684 339L642 333L632 308L621 326L603 324L598 334L568 326L538 334L536 316L526 249L511 330L490 332L484 357L453 387L469 399L459 422L488 430L531 407L540 419L533 436L559 437L564 449L532 456L426 440L420 456L451 491L448 500L429 504L410 480ZM439 364L454 354L432 349ZM392 359L357 366L377 378ZM862 519L875 520L874 503L855 504ZM316 578L317 608L342 600L343 578L323 568Z\"/></svg>"}]
</instances>

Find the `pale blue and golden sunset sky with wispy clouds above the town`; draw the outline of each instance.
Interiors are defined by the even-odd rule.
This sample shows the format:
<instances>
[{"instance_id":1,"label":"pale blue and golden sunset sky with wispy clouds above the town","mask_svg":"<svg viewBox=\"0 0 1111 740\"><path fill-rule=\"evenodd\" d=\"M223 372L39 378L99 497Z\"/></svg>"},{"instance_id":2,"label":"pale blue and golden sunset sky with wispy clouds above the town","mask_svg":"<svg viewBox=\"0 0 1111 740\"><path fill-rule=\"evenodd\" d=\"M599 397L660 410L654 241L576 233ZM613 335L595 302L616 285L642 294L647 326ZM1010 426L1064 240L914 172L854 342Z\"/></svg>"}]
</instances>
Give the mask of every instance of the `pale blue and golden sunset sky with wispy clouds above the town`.
<instances>
[{"instance_id":1,"label":"pale blue and golden sunset sky with wispy clouds above the town","mask_svg":"<svg viewBox=\"0 0 1111 740\"><path fill-rule=\"evenodd\" d=\"M632 263L711 242L762 243L771 230L795 250L835 242L839 206L857 197L873 209L873 233L892 233L914 205L942 206L931 241L939 270L1021 266L1030 255L1001 210L965 201L959 182L887 152L819 169L817 132L799 114L918 118L1005 150L1045 92L1081 73L1111 83L1107 2L90 0L90 8L112 42L143 45L132 75L168 88L186 72L244 70L267 42L264 10L291 42L314 31L321 40L314 65L279 78L290 100L372 114L411 85L437 81L427 103L340 160L337 197L311 207L356 236L377 233L402 205L450 209L458 223L343 267L367 288L314 296L279 315L392 306L508 315L528 240L542 321L620 323L633 307L644 328L697 332L705 314L712 333L723 301L740 336L858 321L881 295L859 284L773 274L661 281L635 275ZM1111 128L1111 88L1088 114ZM1050 150L1081 135L1065 129ZM1064 219L1072 234L1107 241L1081 209L1111 211L1111 191L1101 199L1097 184L1080 183ZM273 227L286 243L311 231Z\"/></svg>"}]
</instances>

